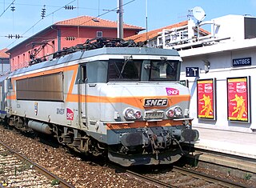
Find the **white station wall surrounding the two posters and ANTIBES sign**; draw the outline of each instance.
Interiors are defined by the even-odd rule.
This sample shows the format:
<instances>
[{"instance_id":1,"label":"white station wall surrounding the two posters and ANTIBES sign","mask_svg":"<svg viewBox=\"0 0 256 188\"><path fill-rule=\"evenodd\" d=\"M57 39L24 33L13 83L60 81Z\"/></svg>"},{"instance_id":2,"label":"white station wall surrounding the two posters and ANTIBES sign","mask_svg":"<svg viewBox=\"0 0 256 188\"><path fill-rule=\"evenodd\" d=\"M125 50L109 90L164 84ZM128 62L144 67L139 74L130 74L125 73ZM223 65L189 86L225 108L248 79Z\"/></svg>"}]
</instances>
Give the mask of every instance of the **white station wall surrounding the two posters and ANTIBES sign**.
<instances>
[{"instance_id":1,"label":"white station wall surrounding the two posters and ANTIBES sign","mask_svg":"<svg viewBox=\"0 0 256 188\"><path fill-rule=\"evenodd\" d=\"M200 50L200 48L198 48ZM189 50L188 50L189 51ZM215 54L201 54L195 57L183 57L181 80L189 80L189 88L191 94L190 117L194 118L194 126L209 127L220 130L235 130L242 132L252 132L256 129L256 46L245 50L229 50ZM184 51L182 52L184 54ZM186 54L186 53L185 53ZM251 58L251 66L242 66L238 68L232 67L234 58ZM205 73L204 62L207 59L210 62L210 71ZM186 67L199 67L199 78L186 77ZM226 78L250 76L251 90L251 121L246 122L230 122L227 120L227 94L226 94ZM197 118L197 79L216 78L216 108L217 120L198 119Z\"/></svg>"}]
</instances>

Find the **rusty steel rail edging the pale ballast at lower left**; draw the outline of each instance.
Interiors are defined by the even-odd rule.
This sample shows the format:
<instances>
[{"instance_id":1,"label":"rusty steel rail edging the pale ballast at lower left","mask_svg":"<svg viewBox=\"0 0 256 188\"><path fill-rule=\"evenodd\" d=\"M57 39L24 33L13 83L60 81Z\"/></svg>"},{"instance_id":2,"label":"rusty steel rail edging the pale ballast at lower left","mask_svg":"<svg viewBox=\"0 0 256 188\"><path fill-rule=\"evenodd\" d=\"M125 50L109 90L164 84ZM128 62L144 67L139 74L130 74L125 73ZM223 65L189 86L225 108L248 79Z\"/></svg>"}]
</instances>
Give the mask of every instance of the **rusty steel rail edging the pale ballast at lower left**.
<instances>
[{"instance_id":1,"label":"rusty steel rail edging the pale ballast at lower left","mask_svg":"<svg viewBox=\"0 0 256 188\"><path fill-rule=\"evenodd\" d=\"M71 185L69 182L66 182L64 179L59 178L58 176L52 174L50 171L46 170L42 166L39 166L37 163L31 161L29 158L26 158L22 154L19 154L18 152L16 152L12 148L10 148L10 146L6 146L6 144L4 144L2 142L0 142L0 145L3 146L4 148L6 148L6 150L9 150L17 158L19 158L21 160L25 160L27 162L30 162L30 164L34 166L35 170L38 170L41 174L45 175L47 178L50 178L50 180L58 180L58 182L59 182L58 185L61 186L62 188L74 188L74 186Z\"/></svg>"}]
</instances>

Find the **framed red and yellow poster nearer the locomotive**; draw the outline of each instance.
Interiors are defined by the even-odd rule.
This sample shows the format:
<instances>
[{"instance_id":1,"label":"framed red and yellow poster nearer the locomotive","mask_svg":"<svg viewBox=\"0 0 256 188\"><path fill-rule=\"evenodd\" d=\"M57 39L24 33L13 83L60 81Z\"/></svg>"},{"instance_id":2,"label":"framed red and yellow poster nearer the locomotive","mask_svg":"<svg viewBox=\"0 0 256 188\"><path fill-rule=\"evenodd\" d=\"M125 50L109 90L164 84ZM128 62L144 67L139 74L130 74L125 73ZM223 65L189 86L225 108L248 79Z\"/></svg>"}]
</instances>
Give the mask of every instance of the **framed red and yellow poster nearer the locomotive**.
<instances>
[{"instance_id":1,"label":"framed red and yellow poster nearer the locomotive","mask_svg":"<svg viewBox=\"0 0 256 188\"><path fill-rule=\"evenodd\" d=\"M215 79L197 81L198 88L198 118L216 119Z\"/></svg>"}]
</instances>

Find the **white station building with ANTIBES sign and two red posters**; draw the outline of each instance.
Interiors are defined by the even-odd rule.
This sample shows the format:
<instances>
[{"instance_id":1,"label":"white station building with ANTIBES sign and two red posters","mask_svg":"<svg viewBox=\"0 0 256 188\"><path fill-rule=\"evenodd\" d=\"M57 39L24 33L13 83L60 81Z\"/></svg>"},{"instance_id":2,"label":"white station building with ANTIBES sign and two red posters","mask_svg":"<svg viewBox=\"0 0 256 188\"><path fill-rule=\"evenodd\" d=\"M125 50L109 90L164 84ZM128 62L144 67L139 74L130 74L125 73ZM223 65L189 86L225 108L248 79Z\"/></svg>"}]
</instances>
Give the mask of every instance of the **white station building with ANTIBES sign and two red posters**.
<instances>
[{"instance_id":1,"label":"white station building with ANTIBES sign and two red posters","mask_svg":"<svg viewBox=\"0 0 256 188\"><path fill-rule=\"evenodd\" d=\"M210 26L209 34L202 33L203 25ZM186 26L150 32L156 35L149 46L176 49L182 57L180 79L190 88L194 127L256 133L256 18L189 18Z\"/></svg>"}]
</instances>

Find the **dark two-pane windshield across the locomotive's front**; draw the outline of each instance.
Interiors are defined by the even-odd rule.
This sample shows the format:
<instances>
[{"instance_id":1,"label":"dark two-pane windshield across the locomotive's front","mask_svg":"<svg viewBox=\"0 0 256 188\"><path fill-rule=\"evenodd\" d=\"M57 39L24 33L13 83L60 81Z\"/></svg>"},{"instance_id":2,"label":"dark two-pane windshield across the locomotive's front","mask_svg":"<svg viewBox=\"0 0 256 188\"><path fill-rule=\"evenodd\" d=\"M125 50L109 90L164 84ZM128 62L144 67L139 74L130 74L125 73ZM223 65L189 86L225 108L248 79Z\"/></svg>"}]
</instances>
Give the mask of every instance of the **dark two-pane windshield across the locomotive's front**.
<instances>
[{"instance_id":1,"label":"dark two-pane windshield across the locomotive's front","mask_svg":"<svg viewBox=\"0 0 256 188\"><path fill-rule=\"evenodd\" d=\"M140 60L133 59L132 56L125 59L110 59L107 81L176 81L179 77L179 66L178 61Z\"/></svg>"}]
</instances>

